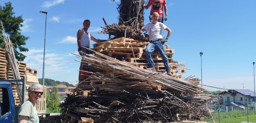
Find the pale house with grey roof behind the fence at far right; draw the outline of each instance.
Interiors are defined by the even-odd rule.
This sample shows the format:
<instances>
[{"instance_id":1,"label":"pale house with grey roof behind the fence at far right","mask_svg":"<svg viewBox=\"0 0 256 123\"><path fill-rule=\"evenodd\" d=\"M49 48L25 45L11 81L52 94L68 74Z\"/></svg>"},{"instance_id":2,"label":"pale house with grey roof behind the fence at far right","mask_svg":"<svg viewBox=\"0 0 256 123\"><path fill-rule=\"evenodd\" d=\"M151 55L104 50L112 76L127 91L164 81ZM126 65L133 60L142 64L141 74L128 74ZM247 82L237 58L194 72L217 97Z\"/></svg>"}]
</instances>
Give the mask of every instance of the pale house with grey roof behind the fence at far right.
<instances>
[{"instance_id":1,"label":"pale house with grey roof behind the fence at far right","mask_svg":"<svg viewBox=\"0 0 256 123\"><path fill-rule=\"evenodd\" d=\"M223 98L220 99L220 105L225 106L225 110L245 109L248 102L250 109L255 109L254 92L249 89L233 89L221 92Z\"/></svg>"}]
</instances>

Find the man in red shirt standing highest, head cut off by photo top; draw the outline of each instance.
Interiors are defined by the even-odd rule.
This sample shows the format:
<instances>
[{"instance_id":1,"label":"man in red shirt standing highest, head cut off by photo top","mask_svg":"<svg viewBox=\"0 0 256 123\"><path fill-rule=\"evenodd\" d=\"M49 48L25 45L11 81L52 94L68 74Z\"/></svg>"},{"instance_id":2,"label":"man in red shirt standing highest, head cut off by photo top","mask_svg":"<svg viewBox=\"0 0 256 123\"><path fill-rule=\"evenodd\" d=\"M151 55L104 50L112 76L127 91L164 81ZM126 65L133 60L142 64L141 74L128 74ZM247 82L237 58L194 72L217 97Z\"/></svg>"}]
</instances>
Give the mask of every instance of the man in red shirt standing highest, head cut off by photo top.
<instances>
[{"instance_id":1,"label":"man in red shirt standing highest, head cut off by photo top","mask_svg":"<svg viewBox=\"0 0 256 123\"><path fill-rule=\"evenodd\" d=\"M163 8L165 10L165 21L167 21L167 6L165 0L149 0L148 4L144 6L145 9L148 9L151 6L149 20L152 22L152 14L157 12L159 14L158 22L163 23Z\"/></svg>"}]
</instances>

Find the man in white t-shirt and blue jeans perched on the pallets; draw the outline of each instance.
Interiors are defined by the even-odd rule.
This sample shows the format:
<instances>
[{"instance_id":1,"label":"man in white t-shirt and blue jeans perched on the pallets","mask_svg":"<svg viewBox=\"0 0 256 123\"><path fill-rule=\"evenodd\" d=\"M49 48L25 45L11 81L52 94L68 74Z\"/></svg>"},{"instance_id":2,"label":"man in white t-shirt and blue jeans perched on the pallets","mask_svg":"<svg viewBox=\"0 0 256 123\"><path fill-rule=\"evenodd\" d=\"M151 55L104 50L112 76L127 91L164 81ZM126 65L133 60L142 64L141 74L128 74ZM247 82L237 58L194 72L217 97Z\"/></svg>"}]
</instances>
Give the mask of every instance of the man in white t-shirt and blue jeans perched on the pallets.
<instances>
[{"instance_id":1,"label":"man in white t-shirt and blue jeans perched on the pallets","mask_svg":"<svg viewBox=\"0 0 256 123\"><path fill-rule=\"evenodd\" d=\"M167 42L168 38L171 35L171 29L169 29L163 23L157 22L157 20L159 19L159 14L157 12L154 12L152 14L152 19L153 21L150 23L147 23L145 27L140 31L141 32L140 37L143 39L145 38L143 31L148 31L148 35L149 35L150 43L148 44L145 50L145 53L148 59L148 66L149 66L148 70L156 71L156 69L154 68L154 61L152 59L151 53L155 49L157 49L163 59L163 63L165 65L165 70L167 72L167 75L171 75L169 61L167 59L166 52L165 52L165 42ZM162 36L163 30L168 31L166 38L163 38Z\"/></svg>"}]
</instances>

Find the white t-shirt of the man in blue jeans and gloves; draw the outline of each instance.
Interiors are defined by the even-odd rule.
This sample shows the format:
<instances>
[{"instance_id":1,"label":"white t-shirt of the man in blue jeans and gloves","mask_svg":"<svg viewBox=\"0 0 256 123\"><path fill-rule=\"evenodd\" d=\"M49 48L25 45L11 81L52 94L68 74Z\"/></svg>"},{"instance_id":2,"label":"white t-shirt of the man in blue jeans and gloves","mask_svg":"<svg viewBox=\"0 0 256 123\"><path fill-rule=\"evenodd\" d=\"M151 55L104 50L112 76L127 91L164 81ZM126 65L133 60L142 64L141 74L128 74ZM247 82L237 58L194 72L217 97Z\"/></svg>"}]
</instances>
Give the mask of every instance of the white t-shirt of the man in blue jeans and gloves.
<instances>
[{"instance_id":1,"label":"white t-shirt of the man in blue jeans and gloves","mask_svg":"<svg viewBox=\"0 0 256 123\"><path fill-rule=\"evenodd\" d=\"M146 29L148 31L150 41L163 39L162 31L166 28L167 28L167 26L160 22L157 22L156 24L149 22L144 27L144 29Z\"/></svg>"}]
</instances>

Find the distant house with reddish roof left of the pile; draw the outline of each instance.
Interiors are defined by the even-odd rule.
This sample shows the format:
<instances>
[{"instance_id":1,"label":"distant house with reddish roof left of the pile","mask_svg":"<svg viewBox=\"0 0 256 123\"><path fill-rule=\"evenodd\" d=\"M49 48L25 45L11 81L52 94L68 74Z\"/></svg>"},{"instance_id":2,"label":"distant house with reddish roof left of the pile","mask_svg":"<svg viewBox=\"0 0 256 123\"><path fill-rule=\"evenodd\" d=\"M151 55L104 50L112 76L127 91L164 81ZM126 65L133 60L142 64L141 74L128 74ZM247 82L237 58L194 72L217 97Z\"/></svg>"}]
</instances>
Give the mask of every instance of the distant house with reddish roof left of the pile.
<instances>
[{"instance_id":1,"label":"distant house with reddish roof left of the pile","mask_svg":"<svg viewBox=\"0 0 256 123\"><path fill-rule=\"evenodd\" d=\"M53 88L57 89L57 93L65 98L67 97L67 94L71 94L70 89L74 89L75 87L68 87L67 85L63 85L63 84L59 84L56 86L47 86L47 89L49 90L49 92L53 93Z\"/></svg>"}]
</instances>

